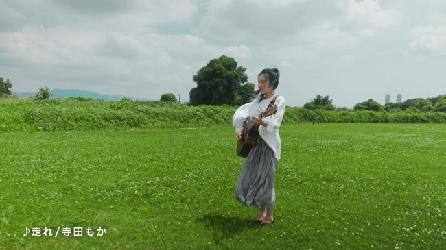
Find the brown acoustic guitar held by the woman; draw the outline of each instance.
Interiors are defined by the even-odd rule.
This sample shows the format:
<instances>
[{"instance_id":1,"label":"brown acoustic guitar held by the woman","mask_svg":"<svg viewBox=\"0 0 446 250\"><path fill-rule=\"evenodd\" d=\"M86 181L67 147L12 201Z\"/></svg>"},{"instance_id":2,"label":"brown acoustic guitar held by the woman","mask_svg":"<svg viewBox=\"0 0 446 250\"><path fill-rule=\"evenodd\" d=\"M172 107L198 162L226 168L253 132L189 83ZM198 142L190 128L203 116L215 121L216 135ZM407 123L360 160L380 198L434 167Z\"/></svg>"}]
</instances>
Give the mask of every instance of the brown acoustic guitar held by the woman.
<instances>
[{"instance_id":1,"label":"brown acoustic guitar held by the woman","mask_svg":"<svg viewBox=\"0 0 446 250\"><path fill-rule=\"evenodd\" d=\"M272 116L277 112L277 105L273 105L265 111L260 111L259 118ZM255 122L255 117L251 117L249 121L244 121L242 139L237 141L237 156L248 157L248 153L257 144L257 136L259 136L259 126Z\"/></svg>"}]
</instances>

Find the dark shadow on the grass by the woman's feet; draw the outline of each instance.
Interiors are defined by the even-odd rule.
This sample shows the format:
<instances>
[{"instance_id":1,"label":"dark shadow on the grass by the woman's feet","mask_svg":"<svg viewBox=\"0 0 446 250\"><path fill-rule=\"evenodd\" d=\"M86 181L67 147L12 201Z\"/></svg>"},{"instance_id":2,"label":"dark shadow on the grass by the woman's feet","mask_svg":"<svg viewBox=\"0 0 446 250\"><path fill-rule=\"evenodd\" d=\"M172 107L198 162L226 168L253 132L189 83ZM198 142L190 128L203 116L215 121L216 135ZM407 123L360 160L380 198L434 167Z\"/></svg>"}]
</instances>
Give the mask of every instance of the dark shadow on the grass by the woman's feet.
<instances>
[{"instance_id":1,"label":"dark shadow on the grass by the woman's feet","mask_svg":"<svg viewBox=\"0 0 446 250\"><path fill-rule=\"evenodd\" d=\"M248 220L237 217L222 217L221 214L207 214L196 220L204 224L213 234L213 241L217 245L226 245L224 242L233 240L235 236L245 230L259 228L259 225L249 225Z\"/></svg>"}]
</instances>

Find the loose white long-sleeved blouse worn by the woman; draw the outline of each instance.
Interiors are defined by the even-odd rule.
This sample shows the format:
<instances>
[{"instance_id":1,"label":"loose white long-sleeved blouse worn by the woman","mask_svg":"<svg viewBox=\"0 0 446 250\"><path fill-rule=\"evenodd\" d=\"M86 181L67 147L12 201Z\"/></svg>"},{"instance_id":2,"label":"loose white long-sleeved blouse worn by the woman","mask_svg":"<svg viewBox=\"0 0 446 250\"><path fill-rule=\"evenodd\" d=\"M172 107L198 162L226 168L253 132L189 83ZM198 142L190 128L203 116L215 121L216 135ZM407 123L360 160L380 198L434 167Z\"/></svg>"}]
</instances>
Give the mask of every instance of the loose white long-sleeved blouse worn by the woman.
<instances>
[{"instance_id":1,"label":"loose white long-sleeved blouse worn by the woman","mask_svg":"<svg viewBox=\"0 0 446 250\"><path fill-rule=\"evenodd\" d=\"M235 111L233 116L235 132L242 132L243 122L246 121L246 118L259 116L259 112L257 110L266 110L273 98L274 96L268 99L263 99L261 102L259 102L259 99L254 99L252 103L246 103L240 106L237 111ZM263 125L259 127L259 135L263 140L265 140L266 144L270 146L272 151L274 151L274 156L276 157L277 161L279 161L281 155L281 138L279 136L279 127L282 123L283 113L285 112L285 99L279 96L274 104L277 105L277 112L275 115L273 114L272 116L266 118L268 125L266 125L266 127L263 127Z\"/></svg>"}]
</instances>

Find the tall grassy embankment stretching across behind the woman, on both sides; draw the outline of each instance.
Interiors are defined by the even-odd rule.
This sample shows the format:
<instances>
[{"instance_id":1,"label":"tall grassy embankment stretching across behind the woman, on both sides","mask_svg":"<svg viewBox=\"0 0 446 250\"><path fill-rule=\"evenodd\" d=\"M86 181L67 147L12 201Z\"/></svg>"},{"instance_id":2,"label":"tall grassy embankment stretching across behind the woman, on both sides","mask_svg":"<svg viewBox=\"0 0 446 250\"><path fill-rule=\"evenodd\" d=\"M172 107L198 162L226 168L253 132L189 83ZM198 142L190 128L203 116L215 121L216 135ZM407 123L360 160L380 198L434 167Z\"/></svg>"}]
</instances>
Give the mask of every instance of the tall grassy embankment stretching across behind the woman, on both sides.
<instances>
[{"instance_id":1,"label":"tall grassy embankment stretching across behind the woman, on both sides","mask_svg":"<svg viewBox=\"0 0 446 250\"><path fill-rule=\"evenodd\" d=\"M0 131L41 132L230 125L236 106L191 107L178 103L102 101L83 97L43 101L0 99ZM445 112L325 111L285 109L283 124L446 123Z\"/></svg>"}]
</instances>

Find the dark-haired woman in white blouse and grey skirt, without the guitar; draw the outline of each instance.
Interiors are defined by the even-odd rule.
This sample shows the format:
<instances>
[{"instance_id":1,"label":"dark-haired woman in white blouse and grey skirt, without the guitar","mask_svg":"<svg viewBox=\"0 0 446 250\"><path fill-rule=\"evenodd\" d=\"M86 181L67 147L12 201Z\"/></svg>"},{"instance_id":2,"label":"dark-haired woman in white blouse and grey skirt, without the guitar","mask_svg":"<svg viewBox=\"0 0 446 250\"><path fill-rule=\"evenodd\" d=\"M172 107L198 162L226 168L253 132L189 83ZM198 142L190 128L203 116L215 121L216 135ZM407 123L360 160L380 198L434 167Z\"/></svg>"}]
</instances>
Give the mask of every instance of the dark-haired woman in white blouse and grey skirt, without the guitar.
<instances>
[{"instance_id":1,"label":"dark-haired woman in white blouse and grey skirt, without the guitar","mask_svg":"<svg viewBox=\"0 0 446 250\"><path fill-rule=\"evenodd\" d=\"M250 224L274 223L273 213L276 201L274 192L274 176L281 154L279 127L285 112L285 99L278 96L275 104L277 112L268 118L259 118L257 110L266 110L270 101L277 95L275 89L279 85L280 73L277 68L266 68L257 76L259 90L256 99L237 109L233 116L235 139L242 139L243 122L246 118L256 117L259 125L257 145L251 149L240 171L235 197L244 206L255 206L260 209L260 216ZM260 108L259 108L260 107Z\"/></svg>"}]
</instances>

